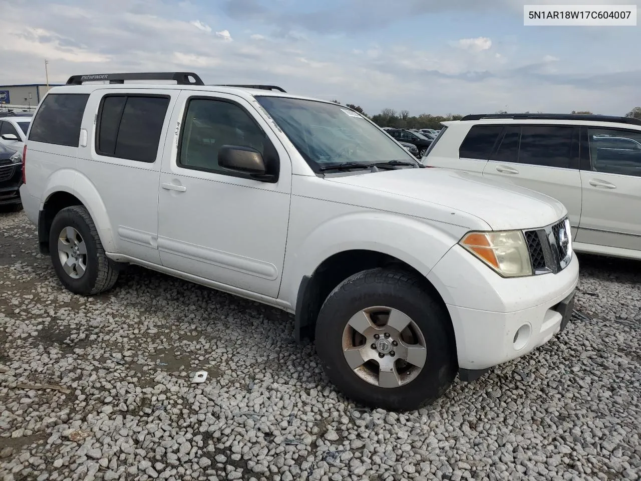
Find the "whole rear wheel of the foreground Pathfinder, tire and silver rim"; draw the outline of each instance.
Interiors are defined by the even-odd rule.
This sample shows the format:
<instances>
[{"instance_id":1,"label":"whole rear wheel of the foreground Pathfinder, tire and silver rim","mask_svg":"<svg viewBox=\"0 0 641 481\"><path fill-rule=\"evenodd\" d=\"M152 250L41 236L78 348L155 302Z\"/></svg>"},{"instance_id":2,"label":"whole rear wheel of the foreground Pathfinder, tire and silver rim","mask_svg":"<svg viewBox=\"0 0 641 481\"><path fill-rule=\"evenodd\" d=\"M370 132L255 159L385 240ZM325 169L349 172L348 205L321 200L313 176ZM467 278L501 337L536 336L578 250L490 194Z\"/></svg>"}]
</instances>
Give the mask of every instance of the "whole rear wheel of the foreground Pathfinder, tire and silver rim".
<instances>
[{"instance_id":1,"label":"whole rear wheel of the foreground Pathfinder, tire and silver rim","mask_svg":"<svg viewBox=\"0 0 641 481\"><path fill-rule=\"evenodd\" d=\"M72 232L75 234L72 235ZM59 249L58 241L63 233L66 236L66 239L62 241L63 245L60 246L63 250L70 251L74 246L84 245L84 248L76 250L78 262L75 262L72 273L63 267L63 258L65 256L72 257L67 251ZM94 224L87 208L83 206L66 207L56 214L53 223L51 223L51 230L49 230L49 251L54 271L56 271L60 282L74 294L92 296L108 291L118 279L118 266L113 260L106 257L103 244L98 237L96 224ZM74 259L75 257L72 258L70 264L74 262Z\"/></svg>"}]
</instances>

